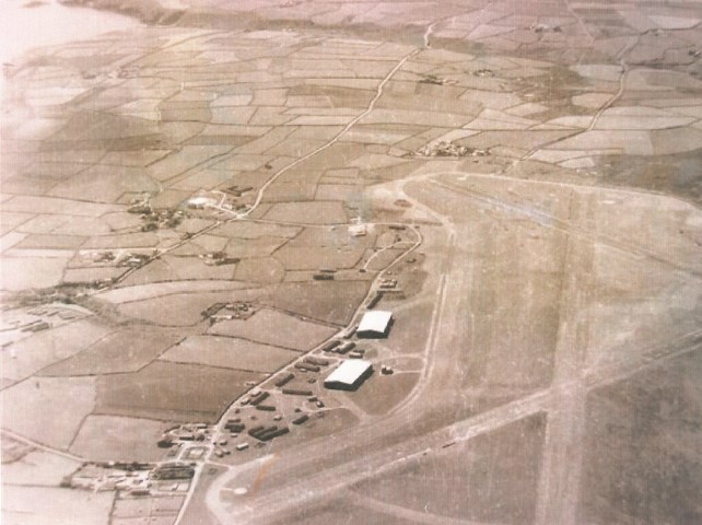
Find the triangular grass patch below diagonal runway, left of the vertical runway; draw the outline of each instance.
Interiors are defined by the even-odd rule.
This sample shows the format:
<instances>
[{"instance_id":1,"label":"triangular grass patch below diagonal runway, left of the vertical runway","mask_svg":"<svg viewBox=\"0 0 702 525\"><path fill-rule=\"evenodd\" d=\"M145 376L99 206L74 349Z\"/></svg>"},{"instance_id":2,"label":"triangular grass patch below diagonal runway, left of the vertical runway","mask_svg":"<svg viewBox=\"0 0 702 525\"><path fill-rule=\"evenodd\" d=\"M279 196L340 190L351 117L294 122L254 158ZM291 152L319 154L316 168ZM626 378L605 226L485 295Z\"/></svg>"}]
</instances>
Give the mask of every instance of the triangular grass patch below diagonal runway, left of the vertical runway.
<instances>
[{"instance_id":1,"label":"triangular grass patch below diagonal runway, left of the vertical runway","mask_svg":"<svg viewBox=\"0 0 702 525\"><path fill-rule=\"evenodd\" d=\"M437 523L442 516L514 525L531 523L545 427L543 416L519 420L411 459L399 471L361 482L355 490L428 513ZM432 487L429 500L426 487Z\"/></svg>"}]
</instances>

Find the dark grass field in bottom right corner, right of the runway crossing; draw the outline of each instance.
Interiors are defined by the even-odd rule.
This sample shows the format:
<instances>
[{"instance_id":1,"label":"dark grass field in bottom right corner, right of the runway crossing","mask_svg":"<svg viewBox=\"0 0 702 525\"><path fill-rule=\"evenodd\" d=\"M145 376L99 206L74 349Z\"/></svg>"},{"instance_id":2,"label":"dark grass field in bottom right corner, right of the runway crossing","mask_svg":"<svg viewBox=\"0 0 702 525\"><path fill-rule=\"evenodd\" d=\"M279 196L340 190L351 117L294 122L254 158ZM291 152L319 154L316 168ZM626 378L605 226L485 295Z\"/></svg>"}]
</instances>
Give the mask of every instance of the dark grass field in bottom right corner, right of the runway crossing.
<instances>
[{"instance_id":1,"label":"dark grass field in bottom right corner, right of the runway crossing","mask_svg":"<svg viewBox=\"0 0 702 525\"><path fill-rule=\"evenodd\" d=\"M698 350L590 394L578 520L700 521L701 366Z\"/></svg>"}]
</instances>

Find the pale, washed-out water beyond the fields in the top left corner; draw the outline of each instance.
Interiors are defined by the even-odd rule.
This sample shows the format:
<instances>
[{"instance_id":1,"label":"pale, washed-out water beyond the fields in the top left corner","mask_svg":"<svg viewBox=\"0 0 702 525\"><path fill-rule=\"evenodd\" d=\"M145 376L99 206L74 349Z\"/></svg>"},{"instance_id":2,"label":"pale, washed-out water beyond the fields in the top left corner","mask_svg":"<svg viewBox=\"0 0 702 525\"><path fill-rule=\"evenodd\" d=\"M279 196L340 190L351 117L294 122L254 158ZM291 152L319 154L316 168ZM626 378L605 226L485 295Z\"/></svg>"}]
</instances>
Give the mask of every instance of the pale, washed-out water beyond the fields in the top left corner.
<instances>
[{"instance_id":1,"label":"pale, washed-out water beyond the fields in the top left corner","mask_svg":"<svg viewBox=\"0 0 702 525\"><path fill-rule=\"evenodd\" d=\"M32 3L37 7L25 7ZM0 61L10 63L36 47L92 38L141 25L130 16L67 7L57 0L2 0L0 9Z\"/></svg>"}]
</instances>

